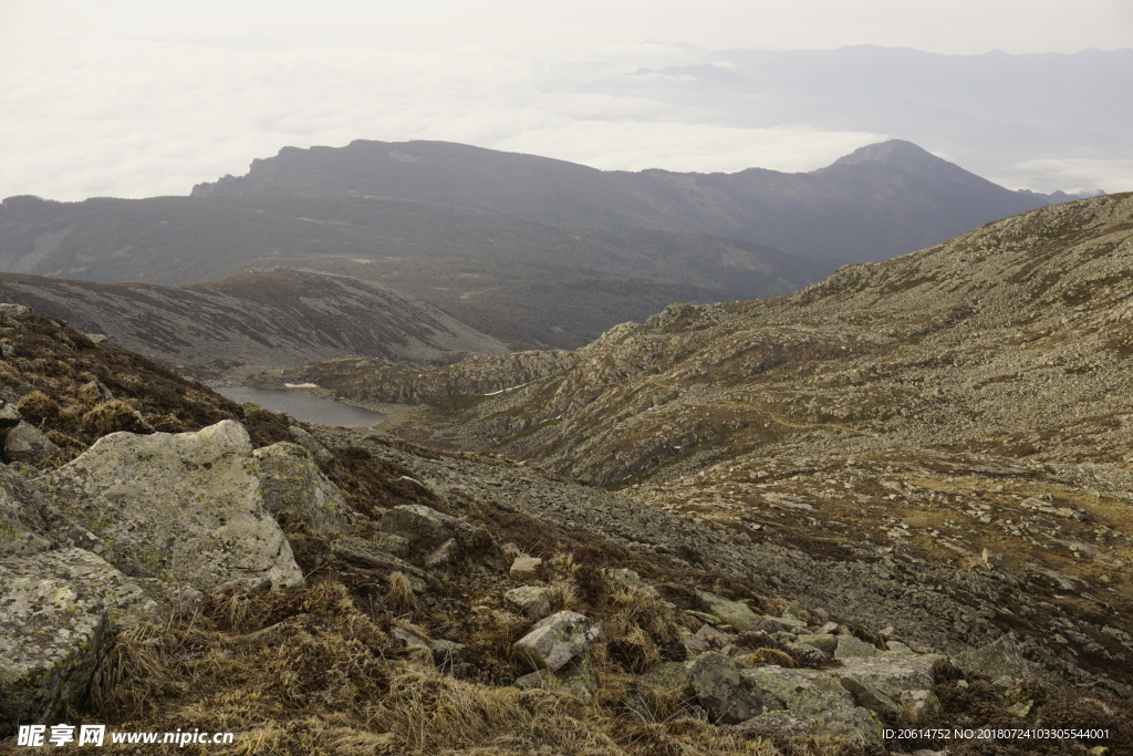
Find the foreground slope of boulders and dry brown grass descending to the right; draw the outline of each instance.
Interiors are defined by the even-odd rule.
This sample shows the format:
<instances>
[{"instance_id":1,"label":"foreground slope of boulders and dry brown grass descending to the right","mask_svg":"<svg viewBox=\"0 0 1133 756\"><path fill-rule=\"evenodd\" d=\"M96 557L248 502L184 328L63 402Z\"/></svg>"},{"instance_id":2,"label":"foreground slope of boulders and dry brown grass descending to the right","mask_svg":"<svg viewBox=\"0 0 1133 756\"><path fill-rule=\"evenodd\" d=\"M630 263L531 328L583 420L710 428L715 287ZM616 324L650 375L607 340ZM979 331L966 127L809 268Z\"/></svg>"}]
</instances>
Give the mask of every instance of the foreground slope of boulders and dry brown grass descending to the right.
<instances>
[{"instance_id":1,"label":"foreground slope of boulders and dry brown grass descending to the right","mask_svg":"<svg viewBox=\"0 0 1133 756\"><path fill-rule=\"evenodd\" d=\"M925 643L963 645L938 566L921 572L937 613L906 632L919 604L886 618L866 601L887 585L878 563L823 563L506 460L246 414L18 306L0 345L0 753L84 724L105 727L107 753L145 732L184 747L198 723L233 739L187 753L1133 746L1111 678L1067 688L1081 669L983 618L951 655ZM806 584L857 592L868 617L793 601Z\"/></svg>"}]
</instances>

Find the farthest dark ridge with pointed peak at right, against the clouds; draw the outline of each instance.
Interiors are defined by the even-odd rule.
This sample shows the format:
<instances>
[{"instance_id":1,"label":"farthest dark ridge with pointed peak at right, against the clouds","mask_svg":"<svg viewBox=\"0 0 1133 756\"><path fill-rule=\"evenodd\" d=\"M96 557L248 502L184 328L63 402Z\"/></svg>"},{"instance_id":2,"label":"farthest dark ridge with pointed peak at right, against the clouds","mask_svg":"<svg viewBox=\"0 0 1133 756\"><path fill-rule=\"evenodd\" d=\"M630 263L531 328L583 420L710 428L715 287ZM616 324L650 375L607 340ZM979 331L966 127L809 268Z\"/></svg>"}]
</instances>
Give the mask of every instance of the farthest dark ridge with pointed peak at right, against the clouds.
<instances>
[{"instance_id":1,"label":"farthest dark ridge with pointed peak at right, against the clouds","mask_svg":"<svg viewBox=\"0 0 1133 756\"><path fill-rule=\"evenodd\" d=\"M408 199L586 228L706 233L801 257L881 260L1065 201L1011 192L909 142L858 150L809 173L599 171L443 142L286 147L195 197Z\"/></svg>"}]
</instances>

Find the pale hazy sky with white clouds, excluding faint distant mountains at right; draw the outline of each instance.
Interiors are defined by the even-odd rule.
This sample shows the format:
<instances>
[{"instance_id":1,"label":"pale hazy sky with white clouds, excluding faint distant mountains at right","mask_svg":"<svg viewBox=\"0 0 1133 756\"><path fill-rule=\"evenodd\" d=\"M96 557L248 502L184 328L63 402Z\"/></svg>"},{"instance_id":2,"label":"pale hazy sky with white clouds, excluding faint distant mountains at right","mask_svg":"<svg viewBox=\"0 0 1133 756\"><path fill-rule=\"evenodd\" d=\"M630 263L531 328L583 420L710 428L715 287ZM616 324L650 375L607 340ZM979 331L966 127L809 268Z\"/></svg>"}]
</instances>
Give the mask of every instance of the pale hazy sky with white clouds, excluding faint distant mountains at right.
<instances>
[{"instance_id":1,"label":"pale hazy sky with white clouds, excluding faint distant mountains at right","mask_svg":"<svg viewBox=\"0 0 1133 756\"><path fill-rule=\"evenodd\" d=\"M591 83L734 48L857 44L1116 50L1133 46L1133 3L0 0L0 197L187 194L284 145L356 138L448 139L607 169L811 170L903 135L804 120L744 127ZM1133 155L1043 160L993 178L1133 188Z\"/></svg>"}]
</instances>

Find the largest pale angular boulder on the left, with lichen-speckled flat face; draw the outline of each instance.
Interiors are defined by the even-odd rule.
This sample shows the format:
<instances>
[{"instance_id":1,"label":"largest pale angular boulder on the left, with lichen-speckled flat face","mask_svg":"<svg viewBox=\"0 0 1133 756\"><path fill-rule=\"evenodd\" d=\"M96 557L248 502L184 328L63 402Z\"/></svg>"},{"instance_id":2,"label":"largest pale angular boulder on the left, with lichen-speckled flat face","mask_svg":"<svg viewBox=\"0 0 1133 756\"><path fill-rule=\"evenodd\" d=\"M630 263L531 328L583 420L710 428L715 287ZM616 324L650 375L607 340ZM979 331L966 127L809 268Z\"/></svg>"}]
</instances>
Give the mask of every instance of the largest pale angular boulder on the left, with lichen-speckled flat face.
<instances>
[{"instance_id":1,"label":"largest pale angular boulder on the left, with lichen-speckled flat face","mask_svg":"<svg viewBox=\"0 0 1133 756\"><path fill-rule=\"evenodd\" d=\"M128 575L203 591L301 586L255 472L247 431L223 421L195 433L112 433L35 484Z\"/></svg>"}]
</instances>

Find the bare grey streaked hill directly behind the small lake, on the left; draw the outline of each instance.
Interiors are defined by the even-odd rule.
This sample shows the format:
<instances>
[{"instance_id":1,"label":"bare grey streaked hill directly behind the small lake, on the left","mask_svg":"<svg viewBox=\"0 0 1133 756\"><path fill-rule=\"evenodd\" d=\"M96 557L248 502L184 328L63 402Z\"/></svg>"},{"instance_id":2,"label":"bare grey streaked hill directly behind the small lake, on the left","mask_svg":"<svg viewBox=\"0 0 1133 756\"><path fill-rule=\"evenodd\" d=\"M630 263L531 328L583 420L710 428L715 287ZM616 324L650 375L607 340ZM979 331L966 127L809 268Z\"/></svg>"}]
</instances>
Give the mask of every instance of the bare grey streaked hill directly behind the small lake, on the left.
<instances>
[{"instance_id":1,"label":"bare grey streaked hill directly behind the small lake, on the left","mask_svg":"<svg viewBox=\"0 0 1133 756\"><path fill-rule=\"evenodd\" d=\"M0 274L0 300L211 381L347 355L423 365L509 351L420 300L313 271L256 270L184 287L8 273Z\"/></svg>"}]
</instances>

